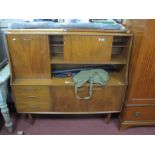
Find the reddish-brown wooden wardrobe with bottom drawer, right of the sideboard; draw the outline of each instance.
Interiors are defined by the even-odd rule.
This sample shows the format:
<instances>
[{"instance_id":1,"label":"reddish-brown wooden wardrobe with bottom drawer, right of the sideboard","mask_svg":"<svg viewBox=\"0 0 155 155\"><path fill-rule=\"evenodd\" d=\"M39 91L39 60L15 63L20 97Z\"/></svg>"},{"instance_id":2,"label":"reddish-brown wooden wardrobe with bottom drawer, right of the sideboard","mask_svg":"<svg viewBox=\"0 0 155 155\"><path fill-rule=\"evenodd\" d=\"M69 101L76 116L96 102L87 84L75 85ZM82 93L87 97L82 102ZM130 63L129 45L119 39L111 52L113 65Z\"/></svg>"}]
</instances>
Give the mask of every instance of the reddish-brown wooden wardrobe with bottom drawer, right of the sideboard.
<instances>
[{"instance_id":1,"label":"reddish-brown wooden wardrobe with bottom drawer, right of the sideboard","mask_svg":"<svg viewBox=\"0 0 155 155\"><path fill-rule=\"evenodd\" d=\"M129 20L129 25L134 40L122 129L155 125L155 20Z\"/></svg>"}]
</instances>

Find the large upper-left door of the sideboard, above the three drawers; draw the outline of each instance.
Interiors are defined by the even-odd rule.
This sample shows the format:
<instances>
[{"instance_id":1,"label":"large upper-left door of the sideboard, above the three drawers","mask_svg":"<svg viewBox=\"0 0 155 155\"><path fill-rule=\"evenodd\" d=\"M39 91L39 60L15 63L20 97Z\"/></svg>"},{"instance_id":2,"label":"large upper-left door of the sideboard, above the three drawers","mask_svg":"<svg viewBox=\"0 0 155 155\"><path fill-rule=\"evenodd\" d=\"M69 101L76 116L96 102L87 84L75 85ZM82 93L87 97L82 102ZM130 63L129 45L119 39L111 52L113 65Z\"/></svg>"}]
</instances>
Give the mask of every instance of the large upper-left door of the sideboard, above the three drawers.
<instances>
[{"instance_id":1,"label":"large upper-left door of the sideboard, above the three drawers","mask_svg":"<svg viewBox=\"0 0 155 155\"><path fill-rule=\"evenodd\" d=\"M15 78L50 78L47 36L7 35L7 41Z\"/></svg>"}]
</instances>

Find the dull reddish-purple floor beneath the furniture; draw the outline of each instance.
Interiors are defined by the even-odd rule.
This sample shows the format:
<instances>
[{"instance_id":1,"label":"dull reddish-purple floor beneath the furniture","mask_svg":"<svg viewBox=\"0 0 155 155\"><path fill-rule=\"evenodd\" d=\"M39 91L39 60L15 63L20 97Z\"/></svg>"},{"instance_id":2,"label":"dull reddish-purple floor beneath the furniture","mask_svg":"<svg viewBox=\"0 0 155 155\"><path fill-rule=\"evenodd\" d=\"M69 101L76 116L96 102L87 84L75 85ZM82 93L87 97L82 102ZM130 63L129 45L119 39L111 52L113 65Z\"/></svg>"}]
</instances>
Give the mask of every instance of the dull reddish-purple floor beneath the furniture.
<instances>
[{"instance_id":1,"label":"dull reddish-purple floor beneath the furniture","mask_svg":"<svg viewBox=\"0 0 155 155\"><path fill-rule=\"evenodd\" d=\"M23 115L18 118L11 115L15 130L23 131L25 135L151 135L155 134L155 127L132 127L125 131L118 130L118 120L113 116L106 124L104 115L35 115L35 122L31 125ZM6 129L1 135L9 134Z\"/></svg>"}]
</instances>

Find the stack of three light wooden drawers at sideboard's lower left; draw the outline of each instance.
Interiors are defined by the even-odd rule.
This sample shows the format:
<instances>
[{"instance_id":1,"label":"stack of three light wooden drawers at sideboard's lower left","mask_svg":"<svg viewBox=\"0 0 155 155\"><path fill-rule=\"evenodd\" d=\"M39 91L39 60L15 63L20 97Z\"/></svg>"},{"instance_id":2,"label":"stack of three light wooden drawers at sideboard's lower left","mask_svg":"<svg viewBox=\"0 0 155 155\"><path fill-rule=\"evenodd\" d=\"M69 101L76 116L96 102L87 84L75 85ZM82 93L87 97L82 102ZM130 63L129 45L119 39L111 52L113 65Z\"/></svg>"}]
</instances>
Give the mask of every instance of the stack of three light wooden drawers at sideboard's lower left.
<instances>
[{"instance_id":1,"label":"stack of three light wooden drawers at sideboard's lower left","mask_svg":"<svg viewBox=\"0 0 155 155\"><path fill-rule=\"evenodd\" d=\"M12 86L18 112L51 111L50 89L47 86Z\"/></svg>"}]
</instances>

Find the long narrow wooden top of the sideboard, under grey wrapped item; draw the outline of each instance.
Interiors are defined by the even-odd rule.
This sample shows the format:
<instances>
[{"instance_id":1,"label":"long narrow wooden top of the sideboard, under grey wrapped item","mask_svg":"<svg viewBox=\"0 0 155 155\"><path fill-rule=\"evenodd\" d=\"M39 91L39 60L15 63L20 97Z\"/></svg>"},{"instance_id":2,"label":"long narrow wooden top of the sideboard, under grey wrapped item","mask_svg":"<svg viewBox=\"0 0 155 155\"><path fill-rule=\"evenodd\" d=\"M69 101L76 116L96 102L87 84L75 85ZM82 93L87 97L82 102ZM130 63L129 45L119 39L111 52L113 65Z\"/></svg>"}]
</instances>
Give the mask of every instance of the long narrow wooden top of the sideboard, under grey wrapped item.
<instances>
[{"instance_id":1,"label":"long narrow wooden top of the sideboard, under grey wrapped item","mask_svg":"<svg viewBox=\"0 0 155 155\"><path fill-rule=\"evenodd\" d=\"M130 32L119 30L98 30L98 29L8 29L6 34L42 34L42 35L112 35L132 36Z\"/></svg>"}]
</instances>

